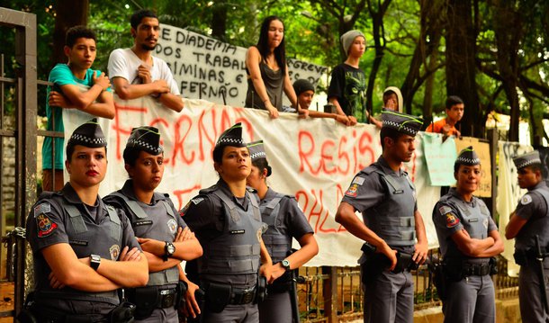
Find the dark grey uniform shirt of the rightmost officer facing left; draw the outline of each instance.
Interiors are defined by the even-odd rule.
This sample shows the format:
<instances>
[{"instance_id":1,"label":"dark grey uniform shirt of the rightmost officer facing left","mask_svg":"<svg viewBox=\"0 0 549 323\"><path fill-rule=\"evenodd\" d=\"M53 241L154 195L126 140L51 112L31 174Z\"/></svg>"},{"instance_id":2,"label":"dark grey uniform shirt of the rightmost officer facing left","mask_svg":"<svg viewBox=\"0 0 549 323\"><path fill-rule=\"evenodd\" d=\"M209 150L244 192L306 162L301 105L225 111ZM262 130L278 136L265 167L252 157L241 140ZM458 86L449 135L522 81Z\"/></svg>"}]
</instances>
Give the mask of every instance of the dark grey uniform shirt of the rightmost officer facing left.
<instances>
[{"instance_id":1,"label":"dark grey uniform shirt of the rightmost officer facing left","mask_svg":"<svg viewBox=\"0 0 549 323\"><path fill-rule=\"evenodd\" d=\"M520 218L527 220L527 223L518 231L515 248L520 250L527 250L528 248L535 246L535 236L540 234L540 243L544 243L547 235L549 235L549 228L545 227L545 223L539 221L544 220L547 216L547 202L545 198L535 190L549 190L545 181L541 181L536 186L528 190L528 192L518 202L517 210L515 214ZM544 232L540 232L544 231Z\"/></svg>"}]
</instances>

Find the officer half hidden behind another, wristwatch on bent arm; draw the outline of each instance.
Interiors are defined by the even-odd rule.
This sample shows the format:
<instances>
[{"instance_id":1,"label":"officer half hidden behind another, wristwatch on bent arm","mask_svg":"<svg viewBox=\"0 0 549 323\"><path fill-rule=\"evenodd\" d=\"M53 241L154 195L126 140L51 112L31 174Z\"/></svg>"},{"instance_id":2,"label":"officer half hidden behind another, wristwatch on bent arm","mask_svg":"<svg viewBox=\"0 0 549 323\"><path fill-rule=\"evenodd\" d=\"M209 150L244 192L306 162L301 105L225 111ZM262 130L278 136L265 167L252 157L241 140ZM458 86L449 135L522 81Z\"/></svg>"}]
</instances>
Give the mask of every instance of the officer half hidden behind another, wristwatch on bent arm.
<instances>
[{"instance_id":1,"label":"officer half hidden behind another, wristwatch on bent arm","mask_svg":"<svg viewBox=\"0 0 549 323\"><path fill-rule=\"evenodd\" d=\"M248 186L257 190L261 199L261 219L269 226L263 241L273 260L274 283L267 288L267 298L259 303L259 322L292 323L298 313L296 291L292 291L292 271L307 263L319 253L311 224L300 209L295 197L276 193L267 186L271 166L266 159L263 140L247 145L252 159L252 171L247 176ZM301 248L292 253L295 238Z\"/></svg>"}]
</instances>

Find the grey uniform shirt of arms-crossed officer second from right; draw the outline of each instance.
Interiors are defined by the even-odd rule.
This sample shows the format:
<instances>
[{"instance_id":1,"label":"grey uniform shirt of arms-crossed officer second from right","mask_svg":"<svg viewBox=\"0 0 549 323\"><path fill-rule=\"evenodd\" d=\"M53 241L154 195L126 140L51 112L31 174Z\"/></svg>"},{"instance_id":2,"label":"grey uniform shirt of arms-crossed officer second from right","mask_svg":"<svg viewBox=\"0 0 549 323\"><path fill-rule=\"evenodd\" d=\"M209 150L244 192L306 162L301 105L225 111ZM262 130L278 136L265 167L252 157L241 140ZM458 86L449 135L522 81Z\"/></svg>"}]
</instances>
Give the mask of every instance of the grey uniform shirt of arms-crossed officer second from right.
<instances>
[{"instance_id":1,"label":"grey uniform shirt of arms-crossed officer second from right","mask_svg":"<svg viewBox=\"0 0 549 323\"><path fill-rule=\"evenodd\" d=\"M472 217L466 220L467 222L464 222L465 220L461 211L457 210L455 205L452 204L452 202L448 202L448 200L452 200L452 202L455 203L462 203L464 208L470 209L472 213L481 214L481 218ZM498 229L494 220L491 219L486 204L484 204L481 199L473 196L471 202L465 202L461 195L457 193L455 187L450 188L450 191L435 205L433 210L433 222L437 229L438 243L440 244L443 256L463 255L451 238L457 231L465 229L467 232L471 233L470 228L478 225L480 222L484 229L486 229L483 231L482 238L488 238L491 231Z\"/></svg>"}]
</instances>

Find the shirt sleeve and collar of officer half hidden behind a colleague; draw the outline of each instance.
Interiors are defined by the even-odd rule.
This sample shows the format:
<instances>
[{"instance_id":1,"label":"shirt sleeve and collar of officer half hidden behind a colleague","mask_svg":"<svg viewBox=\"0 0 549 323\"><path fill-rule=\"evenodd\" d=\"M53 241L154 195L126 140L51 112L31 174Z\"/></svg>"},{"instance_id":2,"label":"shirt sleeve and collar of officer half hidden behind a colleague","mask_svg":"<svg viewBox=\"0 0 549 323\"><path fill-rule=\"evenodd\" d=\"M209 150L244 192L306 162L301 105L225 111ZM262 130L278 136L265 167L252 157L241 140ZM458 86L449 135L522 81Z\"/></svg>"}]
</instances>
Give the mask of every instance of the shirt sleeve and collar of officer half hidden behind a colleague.
<instances>
[{"instance_id":1,"label":"shirt sleeve and collar of officer half hidden behind a colleague","mask_svg":"<svg viewBox=\"0 0 549 323\"><path fill-rule=\"evenodd\" d=\"M265 205L271 202L276 197L276 192L271 188L267 190L267 193L260 205ZM280 211L278 218L276 219L275 227L284 236L293 237L296 239L302 238L308 233L314 233L311 228L311 224L300 209L299 204L295 201L295 198L284 195L283 199L279 202Z\"/></svg>"}]
</instances>

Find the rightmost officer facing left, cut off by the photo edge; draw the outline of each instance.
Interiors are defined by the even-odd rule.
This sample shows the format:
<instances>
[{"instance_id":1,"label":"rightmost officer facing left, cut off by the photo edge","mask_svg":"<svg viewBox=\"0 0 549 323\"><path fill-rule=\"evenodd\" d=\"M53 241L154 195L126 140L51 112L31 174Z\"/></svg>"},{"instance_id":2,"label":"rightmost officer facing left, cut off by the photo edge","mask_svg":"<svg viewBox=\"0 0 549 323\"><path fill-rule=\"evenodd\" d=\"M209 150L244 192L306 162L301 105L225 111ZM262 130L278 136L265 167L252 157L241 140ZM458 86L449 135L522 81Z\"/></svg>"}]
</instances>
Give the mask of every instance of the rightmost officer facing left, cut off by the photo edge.
<instances>
[{"instance_id":1,"label":"rightmost officer facing left, cut off by the photo edge","mask_svg":"<svg viewBox=\"0 0 549 323\"><path fill-rule=\"evenodd\" d=\"M536 236L542 252L549 246L549 189L542 173L542 161L538 151L513 158L518 170L518 186L528 192L518 202L505 228L505 238L515 238L515 262L520 265L518 274L518 301L523 322L546 322L540 291L539 265L536 262ZM545 277L549 277L549 260L544 259ZM544 283L545 290L547 283Z\"/></svg>"}]
</instances>

